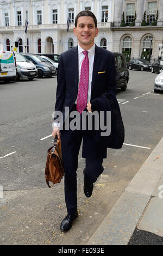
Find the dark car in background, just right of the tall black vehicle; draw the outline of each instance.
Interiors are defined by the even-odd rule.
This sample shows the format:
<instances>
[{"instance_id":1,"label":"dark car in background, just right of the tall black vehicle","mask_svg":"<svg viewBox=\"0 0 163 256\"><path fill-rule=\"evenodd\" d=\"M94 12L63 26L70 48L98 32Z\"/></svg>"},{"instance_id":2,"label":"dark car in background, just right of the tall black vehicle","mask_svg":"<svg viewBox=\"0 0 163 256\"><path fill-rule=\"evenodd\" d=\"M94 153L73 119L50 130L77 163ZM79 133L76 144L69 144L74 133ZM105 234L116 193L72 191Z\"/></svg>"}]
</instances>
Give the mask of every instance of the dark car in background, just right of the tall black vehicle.
<instances>
[{"instance_id":1,"label":"dark car in background, just right of the tall black vehicle","mask_svg":"<svg viewBox=\"0 0 163 256\"><path fill-rule=\"evenodd\" d=\"M145 71L151 71L152 64L147 62L146 59L134 59L131 60L131 62L128 63L128 69L135 69L135 70L145 70Z\"/></svg>"}]
</instances>

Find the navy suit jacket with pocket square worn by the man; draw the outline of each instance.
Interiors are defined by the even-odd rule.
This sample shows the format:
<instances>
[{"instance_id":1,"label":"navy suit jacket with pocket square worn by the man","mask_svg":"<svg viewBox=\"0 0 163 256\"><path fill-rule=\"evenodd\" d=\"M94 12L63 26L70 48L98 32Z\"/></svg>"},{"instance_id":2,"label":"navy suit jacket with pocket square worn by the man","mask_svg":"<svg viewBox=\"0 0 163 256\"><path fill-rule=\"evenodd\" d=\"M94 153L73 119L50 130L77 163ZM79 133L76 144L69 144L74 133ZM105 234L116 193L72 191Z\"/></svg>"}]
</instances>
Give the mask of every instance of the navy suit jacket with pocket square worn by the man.
<instances>
[{"instance_id":1,"label":"navy suit jacket with pocket square worn by the man","mask_svg":"<svg viewBox=\"0 0 163 256\"><path fill-rule=\"evenodd\" d=\"M91 100L105 92L116 95L116 77L114 54L96 45ZM61 111L64 114L65 107L69 107L71 111L78 95L78 80L78 46L76 46L60 54L55 111ZM56 118L54 115L54 121Z\"/></svg>"}]
</instances>

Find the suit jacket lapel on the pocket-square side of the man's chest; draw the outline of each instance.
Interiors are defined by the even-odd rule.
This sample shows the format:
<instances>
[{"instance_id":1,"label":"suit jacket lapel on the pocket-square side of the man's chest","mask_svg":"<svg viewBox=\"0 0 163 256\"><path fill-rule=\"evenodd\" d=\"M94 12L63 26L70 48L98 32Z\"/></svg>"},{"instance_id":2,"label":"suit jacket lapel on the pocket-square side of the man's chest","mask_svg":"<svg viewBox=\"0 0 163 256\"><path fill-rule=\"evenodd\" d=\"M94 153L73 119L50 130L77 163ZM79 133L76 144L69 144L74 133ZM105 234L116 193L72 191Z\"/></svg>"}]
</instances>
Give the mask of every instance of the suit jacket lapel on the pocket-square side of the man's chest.
<instances>
[{"instance_id":1,"label":"suit jacket lapel on the pocket-square side of the man's chest","mask_svg":"<svg viewBox=\"0 0 163 256\"><path fill-rule=\"evenodd\" d=\"M101 63L101 48L96 45L95 47L95 58L93 63L93 74L92 74L92 86L91 86L91 92L93 90L93 86L96 81L97 72L99 70L99 65Z\"/></svg>"}]
</instances>

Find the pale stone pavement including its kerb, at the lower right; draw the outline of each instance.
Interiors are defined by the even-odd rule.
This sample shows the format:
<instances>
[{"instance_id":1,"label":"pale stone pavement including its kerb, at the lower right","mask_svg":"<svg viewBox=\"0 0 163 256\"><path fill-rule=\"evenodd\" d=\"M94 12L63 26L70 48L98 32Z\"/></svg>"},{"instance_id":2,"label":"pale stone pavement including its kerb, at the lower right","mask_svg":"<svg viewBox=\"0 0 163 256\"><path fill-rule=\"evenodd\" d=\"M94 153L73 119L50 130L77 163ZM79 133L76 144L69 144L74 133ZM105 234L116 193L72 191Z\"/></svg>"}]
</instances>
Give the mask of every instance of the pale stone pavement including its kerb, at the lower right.
<instances>
[{"instance_id":1,"label":"pale stone pavement including its kerb, at the lower right","mask_svg":"<svg viewBox=\"0 0 163 256\"><path fill-rule=\"evenodd\" d=\"M145 244L141 243L141 240L146 234L150 239L152 237L151 244L155 244L154 240L157 239L160 245L163 245L162 216L163 138L91 236L87 245L134 244L129 241L133 233L136 237L136 232L141 237L132 237L131 240L138 240L137 244Z\"/></svg>"}]
</instances>

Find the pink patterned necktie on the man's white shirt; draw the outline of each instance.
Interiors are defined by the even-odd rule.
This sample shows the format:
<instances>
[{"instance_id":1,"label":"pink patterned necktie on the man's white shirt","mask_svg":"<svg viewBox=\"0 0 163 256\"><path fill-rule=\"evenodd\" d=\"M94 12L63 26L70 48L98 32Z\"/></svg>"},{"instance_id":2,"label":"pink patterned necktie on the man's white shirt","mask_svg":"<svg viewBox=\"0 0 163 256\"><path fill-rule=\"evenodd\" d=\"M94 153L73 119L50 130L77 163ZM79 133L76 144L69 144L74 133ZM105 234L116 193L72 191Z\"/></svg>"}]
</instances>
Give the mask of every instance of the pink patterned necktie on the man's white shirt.
<instances>
[{"instance_id":1,"label":"pink patterned necktie on the man's white shirt","mask_svg":"<svg viewBox=\"0 0 163 256\"><path fill-rule=\"evenodd\" d=\"M82 62L82 67L80 71L80 82L77 99L77 110L80 114L87 105L87 90L89 87L89 58L87 57L88 53L89 52L87 51L83 51L85 58Z\"/></svg>"}]
</instances>

